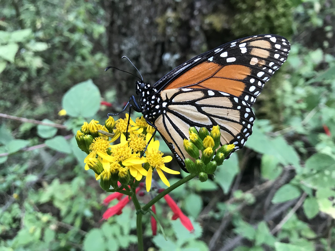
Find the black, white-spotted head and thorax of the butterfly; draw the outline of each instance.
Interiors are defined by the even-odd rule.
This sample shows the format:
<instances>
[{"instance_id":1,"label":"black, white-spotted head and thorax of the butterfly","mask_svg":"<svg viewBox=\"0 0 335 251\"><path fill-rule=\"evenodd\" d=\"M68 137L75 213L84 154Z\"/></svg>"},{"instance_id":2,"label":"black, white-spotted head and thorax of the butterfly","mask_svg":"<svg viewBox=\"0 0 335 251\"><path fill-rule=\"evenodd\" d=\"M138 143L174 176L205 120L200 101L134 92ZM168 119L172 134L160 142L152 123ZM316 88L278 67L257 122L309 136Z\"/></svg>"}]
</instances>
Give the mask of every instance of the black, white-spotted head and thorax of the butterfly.
<instances>
[{"instance_id":1,"label":"black, white-spotted head and thorax of the butterfly","mask_svg":"<svg viewBox=\"0 0 335 251\"><path fill-rule=\"evenodd\" d=\"M137 81L136 94L141 96L139 103L143 117L150 122L155 121L155 119L162 113L163 102L158 91L149 83Z\"/></svg>"}]
</instances>

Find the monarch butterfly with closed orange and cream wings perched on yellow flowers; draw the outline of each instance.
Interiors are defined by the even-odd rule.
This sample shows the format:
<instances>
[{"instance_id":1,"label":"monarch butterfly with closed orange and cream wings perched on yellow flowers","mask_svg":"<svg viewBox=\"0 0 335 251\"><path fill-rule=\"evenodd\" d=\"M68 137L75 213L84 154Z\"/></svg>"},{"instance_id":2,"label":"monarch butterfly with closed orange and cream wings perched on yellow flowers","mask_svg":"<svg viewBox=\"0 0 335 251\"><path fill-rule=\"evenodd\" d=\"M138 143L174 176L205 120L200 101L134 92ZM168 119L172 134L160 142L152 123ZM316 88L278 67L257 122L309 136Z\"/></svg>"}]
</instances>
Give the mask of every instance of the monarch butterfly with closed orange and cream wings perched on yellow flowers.
<instances>
[{"instance_id":1,"label":"monarch butterfly with closed orange and cream wings perched on yellow flowers","mask_svg":"<svg viewBox=\"0 0 335 251\"><path fill-rule=\"evenodd\" d=\"M183 140L192 126L219 125L221 145L235 144L235 150L244 146L255 119L251 106L289 50L289 41L278 35L237 39L178 66L153 86L137 81L139 102L131 96L121 112L128 105L141 112L187 171L184 160L190 156Z\"/></svg>"}]
</instances>

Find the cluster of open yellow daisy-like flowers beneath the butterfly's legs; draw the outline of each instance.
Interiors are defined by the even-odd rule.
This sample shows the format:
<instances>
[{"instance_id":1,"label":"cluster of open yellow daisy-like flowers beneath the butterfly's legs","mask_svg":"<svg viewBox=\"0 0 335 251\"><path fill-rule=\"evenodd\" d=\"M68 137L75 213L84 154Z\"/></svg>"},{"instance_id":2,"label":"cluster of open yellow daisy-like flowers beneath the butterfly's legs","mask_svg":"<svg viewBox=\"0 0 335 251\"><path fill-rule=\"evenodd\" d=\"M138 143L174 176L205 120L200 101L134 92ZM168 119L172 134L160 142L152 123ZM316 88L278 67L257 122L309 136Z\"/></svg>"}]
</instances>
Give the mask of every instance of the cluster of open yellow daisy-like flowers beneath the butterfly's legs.
<instances>
[{"instance_id":1,"label":"cluster of open yellow daisy-like flowers beneath the butterfly's legs","mask_svg":"<svg viewBox=\"0 0 335 251\"><path fill-rule=\"evenodd\" d=\"M163 171L180 173L165 167L164 163L170 162L172 157L163 157L158 149L159 141L152 136L153 132L154 128L147 124L143 116L133 121L126 114L124 119L116 121L110 116L104 125L94 119L89 123L84 122L75 138L78 147L87 153L85 170L95 172L104 190L108 191L111 185L118 190L118 181L122 184L120 189L123 189L146 176L146 190L149 191L154 170L167 186L170 183ZM119 144L112 144L119 138Z\"/></svg>"}]
</instances>

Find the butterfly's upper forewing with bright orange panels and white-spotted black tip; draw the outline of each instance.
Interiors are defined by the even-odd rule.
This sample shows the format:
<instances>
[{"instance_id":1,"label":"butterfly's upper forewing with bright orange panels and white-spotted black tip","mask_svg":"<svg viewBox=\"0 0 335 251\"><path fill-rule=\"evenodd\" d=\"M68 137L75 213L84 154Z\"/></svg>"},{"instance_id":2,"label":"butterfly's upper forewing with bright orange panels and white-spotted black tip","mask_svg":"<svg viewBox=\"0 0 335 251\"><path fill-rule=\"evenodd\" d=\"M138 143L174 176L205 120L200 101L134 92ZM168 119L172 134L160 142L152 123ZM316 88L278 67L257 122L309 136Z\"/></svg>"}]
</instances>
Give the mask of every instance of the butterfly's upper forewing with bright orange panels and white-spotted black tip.
<instances>
[{"instance_id":1,"label":"butterfly's upper forewing with bright orange panels and white-spotted black tip","mask_svg":"<svg viewBox=\"0 0 335 251\"><path fill-rule=\"evenodd\" d=\"M235 95L253 105L265 82L286 61L288 40L257 35L235 40L180 65L154 87L159 90L201 88Z\"/></svg>"}]
</instances>

